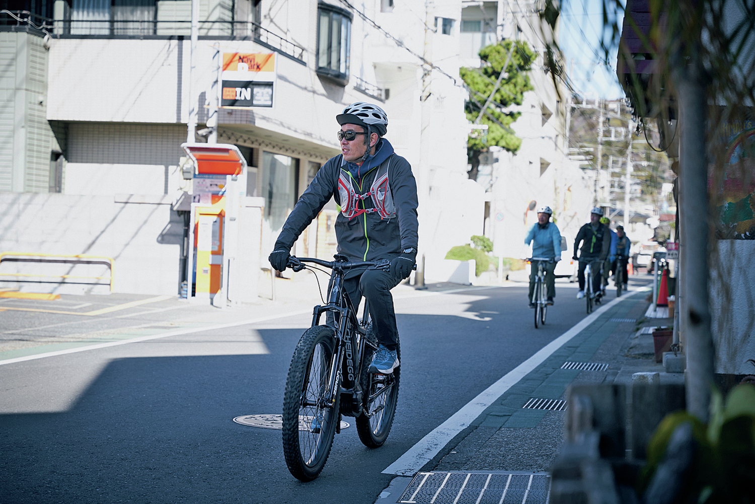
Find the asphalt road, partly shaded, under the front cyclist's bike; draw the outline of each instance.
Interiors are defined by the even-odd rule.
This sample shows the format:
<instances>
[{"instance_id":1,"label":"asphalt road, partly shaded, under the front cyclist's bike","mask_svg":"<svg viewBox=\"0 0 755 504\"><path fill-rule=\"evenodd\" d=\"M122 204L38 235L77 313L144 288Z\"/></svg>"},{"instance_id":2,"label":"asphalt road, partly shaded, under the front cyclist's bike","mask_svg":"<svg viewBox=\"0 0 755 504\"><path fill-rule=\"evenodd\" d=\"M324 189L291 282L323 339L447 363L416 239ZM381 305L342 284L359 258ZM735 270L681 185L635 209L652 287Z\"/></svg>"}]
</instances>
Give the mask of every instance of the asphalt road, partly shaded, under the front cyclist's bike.
<instances>
[{"instance_id":1,"label":"asphalt road, partly shaded, under the front cyclist's bike","mask_svg":"<svg viewBox=\"0 0 755 504\"><path fill-rule=\"evenodd\" d=\"M233 422L281 412L308 314L2 365L0 502L374 502L395 477L382 474L388 465L584 317L573 284L556 285L540 329L524 286L397 300L402 383L390 438L369 450L345 419L352 425L308 484L288 473L280 431ZM57 320L39 330L54 333Z\"/></svg>"}]
</instances>

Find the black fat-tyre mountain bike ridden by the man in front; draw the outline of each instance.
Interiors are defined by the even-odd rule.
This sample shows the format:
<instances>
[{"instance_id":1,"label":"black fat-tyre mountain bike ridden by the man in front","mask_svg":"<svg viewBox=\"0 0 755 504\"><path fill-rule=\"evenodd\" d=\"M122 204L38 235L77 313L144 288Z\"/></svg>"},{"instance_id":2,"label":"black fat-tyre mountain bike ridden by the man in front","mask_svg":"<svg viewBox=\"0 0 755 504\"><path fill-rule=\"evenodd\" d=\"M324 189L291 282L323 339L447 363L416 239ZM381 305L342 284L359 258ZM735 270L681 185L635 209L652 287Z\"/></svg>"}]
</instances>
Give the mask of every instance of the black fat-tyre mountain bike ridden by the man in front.
<instances>
[{"instance_id":1,"label":"black fat-tyre mountain bike ridden by the man in front","mask_svg":"<svg viewBox=\"0 0 755 504\"><path fill-rule=\"evenodd\" d=\"M400 368L391 374L368 373L377 339L368 310L357 319L343 290L344 275L354 270L387 269L389 261L349 262L316 258L288 259L288 267L301 271L304 263L331 268L328 302L314 308L312 327L301 336L291 357L283 397L283 453L294 478L312 481L325 467L334 435L341 431L341 416L355 417L359 440L366 447L381 447L390 432L399 397ZM328 312L325 325L319 325ZM401 361L401 347L396 347Z\"/></svg>"}]
</instances>

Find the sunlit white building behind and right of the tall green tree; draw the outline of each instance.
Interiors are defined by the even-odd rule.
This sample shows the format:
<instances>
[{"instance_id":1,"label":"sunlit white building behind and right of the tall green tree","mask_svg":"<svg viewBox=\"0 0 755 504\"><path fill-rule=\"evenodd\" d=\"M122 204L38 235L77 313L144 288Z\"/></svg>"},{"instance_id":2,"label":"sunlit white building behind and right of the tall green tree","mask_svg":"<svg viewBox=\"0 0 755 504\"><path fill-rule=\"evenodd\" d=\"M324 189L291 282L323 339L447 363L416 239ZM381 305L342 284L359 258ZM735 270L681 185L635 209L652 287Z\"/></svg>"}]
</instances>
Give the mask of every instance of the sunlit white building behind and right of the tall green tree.
<instances>
[{"instance_id":1,"label":"sunlit white building behind and right of the tall green tree","mask_svg":"<svg viewBox=\"0 0 755 504\"><path fill-rule=\"evenodd\" d=\"M543 2L462 2L461 60L479 66L477 53L501 39L520 39L537 54L529 73L533 91L525 93L522 115L512 128L522 138L516 154L492 147L479 167L477 181L485 189L485 236L494 243L494 254L524 258L529 255L524 238L537 221L541 206L553 209L553 218L567 238L569 251L579 227L588 220L592 186L568 159L567 107L569 91L553 79L544 61L546 44L553 33L541 28L538 12ZM569 252L569 258L571 253Z\"/></svg>"}]
</instances>

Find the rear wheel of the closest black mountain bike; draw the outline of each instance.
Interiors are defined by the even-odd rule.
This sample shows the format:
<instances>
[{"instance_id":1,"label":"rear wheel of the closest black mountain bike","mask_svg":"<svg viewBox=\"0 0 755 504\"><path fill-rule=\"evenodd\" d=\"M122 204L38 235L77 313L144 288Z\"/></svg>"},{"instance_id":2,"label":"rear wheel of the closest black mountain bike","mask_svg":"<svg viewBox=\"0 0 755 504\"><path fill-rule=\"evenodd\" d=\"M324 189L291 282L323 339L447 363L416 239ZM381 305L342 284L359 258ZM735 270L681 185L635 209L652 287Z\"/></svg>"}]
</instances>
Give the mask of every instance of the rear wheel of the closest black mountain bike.
<instances>
[{"instance_id":1,"label":"rear wheel of the closest black mountain bike","mask_svg":"<svg viewBox=\"0 0 755 504\"><path fill-rule=\"evenodd\" d=\"M401 381L401 342L396 342L399 367L389 375L368 373L373 349L365 345L362 356L362 376L360 384L364 392L362 414L354 419L359 441L368 448L383 446L393 425L396 404L399 402L399 382Z\"/></svg>"}]
</instances>

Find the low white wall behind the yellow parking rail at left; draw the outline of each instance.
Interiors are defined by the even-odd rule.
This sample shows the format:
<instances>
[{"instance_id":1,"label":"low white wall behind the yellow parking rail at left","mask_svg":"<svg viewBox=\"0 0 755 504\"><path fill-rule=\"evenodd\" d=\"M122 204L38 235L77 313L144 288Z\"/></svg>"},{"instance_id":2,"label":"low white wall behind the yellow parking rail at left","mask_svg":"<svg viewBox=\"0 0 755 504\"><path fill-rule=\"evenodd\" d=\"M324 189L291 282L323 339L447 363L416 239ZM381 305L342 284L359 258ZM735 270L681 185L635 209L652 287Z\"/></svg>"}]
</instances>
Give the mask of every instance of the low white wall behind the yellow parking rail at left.
<instances>
[{"instance_id":1,"label":"low white wall behind the yellow parking rail at left","mask_svg":"<svg viewBox=\"0 0 755 504\"><path fill-rule=\"evenodd\" d=\"M183 221L169 203L169 198L162 204L135 204L116 203L113 196L0 193L0 252L103 255L115 261L115 292L176 295ZM4 262L0 273L70 274L69 265L56 271L40 266ZM87 271L84 276L108 274L104 267ZM34 292L108 292L92 286L0 286Z\"/></svg>"}]
</instances>

